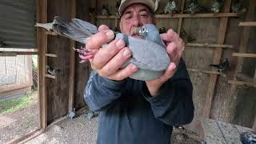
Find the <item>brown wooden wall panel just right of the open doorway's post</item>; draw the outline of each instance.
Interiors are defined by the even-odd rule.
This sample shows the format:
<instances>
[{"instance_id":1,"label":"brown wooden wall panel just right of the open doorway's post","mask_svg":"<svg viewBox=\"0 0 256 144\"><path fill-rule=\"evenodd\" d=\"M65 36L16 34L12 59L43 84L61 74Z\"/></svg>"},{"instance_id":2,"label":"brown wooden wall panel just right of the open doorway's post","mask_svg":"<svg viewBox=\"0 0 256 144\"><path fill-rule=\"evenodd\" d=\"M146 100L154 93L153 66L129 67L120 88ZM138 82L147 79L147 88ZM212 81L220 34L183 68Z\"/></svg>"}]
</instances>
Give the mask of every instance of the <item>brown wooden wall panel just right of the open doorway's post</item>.
<instances>
[{"instance_id":1,"label":"brown wooden wall panel just right of the open doorway's post","mask_svg":"<svg viewBox=\"0 0 256 144\"><path fill-rule=\"evenodd\" d=\"M71 1L55 0L48 2L47 20L52 22L58 15L70 20ZM57 54L58 58L47 58L46 65L61 70L56 78L46 78L47 122L59 118L68 112L70 82L70 39L48 35L47 53Z\"/></svg>"}]
</instances>

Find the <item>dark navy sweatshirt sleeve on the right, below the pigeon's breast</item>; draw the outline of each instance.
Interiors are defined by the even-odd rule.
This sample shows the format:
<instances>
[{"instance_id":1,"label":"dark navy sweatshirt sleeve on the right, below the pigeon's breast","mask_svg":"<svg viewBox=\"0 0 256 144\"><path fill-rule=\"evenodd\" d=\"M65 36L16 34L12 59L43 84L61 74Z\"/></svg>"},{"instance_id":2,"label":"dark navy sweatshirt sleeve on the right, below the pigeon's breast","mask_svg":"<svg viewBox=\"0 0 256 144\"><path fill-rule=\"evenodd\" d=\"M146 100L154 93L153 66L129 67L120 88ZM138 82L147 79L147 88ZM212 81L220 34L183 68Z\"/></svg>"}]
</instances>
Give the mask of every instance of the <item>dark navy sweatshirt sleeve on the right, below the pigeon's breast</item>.
<instances>
[{"instance_id":1,"label":"dark navy sweatshirt sleeve on the right, below the pigeon's breast","mask_svg":"<svg viewBox=\"0 0 256 144\"><path fill-rule=\"evenodd\" d=\"M174 77L161 86L158 97L150 95L146 82L142 86L142 94L150 102L154 117L170 126L185 125L193 120L192 93L192 83L182 59Z\"/></svg>"}]
</instances>

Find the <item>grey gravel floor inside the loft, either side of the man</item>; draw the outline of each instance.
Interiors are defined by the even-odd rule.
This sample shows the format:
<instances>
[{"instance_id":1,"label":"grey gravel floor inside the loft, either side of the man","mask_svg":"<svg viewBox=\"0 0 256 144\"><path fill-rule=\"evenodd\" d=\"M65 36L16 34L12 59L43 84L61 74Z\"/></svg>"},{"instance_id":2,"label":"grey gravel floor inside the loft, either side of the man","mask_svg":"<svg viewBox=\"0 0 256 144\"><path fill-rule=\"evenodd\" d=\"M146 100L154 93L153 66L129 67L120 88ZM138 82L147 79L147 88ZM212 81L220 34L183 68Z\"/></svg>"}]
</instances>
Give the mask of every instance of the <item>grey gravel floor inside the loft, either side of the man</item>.
<instances>
[{"instance_id":1,"label":"grey gravel floor inside the loft, either side of the man","mask_svg":"<svg viewBox=\"0 0 256 144\"><path fill-rule=\"evenodd\" d=\"M46 133L26 141L26 144L34 143L86 143L94 144L97 138L98 118L89 119L85 115L66 120L52 126ZM187 130L174 130L173 144L198 144L200 139L194 133Z\"/></svg>"}]
</instances>

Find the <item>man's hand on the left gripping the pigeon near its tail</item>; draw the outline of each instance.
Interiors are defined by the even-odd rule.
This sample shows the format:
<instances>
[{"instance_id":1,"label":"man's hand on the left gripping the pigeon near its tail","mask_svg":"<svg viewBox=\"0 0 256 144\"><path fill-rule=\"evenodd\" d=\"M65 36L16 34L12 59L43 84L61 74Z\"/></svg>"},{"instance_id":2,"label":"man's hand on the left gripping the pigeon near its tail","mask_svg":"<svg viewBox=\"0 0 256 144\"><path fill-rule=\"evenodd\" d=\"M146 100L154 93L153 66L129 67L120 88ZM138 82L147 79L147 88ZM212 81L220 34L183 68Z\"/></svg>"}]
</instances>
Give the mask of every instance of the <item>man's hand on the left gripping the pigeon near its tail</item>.
<instances>
[{"instance_id":1,"label":"man's hand on the left gripping the pigeon near its tail","mask_svg":"<svg viewBox=\"0 0 256 144\"><path fill-rule=\"evenodd\" d=\"M114 39L114 32L108 26L102 25L98 28L98 33L90 37L86 42L86 49L98 50L94 58L90 59L90 65L102 77L120 81L129 77L138 70L137 66L129 64L122 65L132 55L126 43L122 39ZM110 42L105 48L104 43Z\"/></svg>"}]
</instances>

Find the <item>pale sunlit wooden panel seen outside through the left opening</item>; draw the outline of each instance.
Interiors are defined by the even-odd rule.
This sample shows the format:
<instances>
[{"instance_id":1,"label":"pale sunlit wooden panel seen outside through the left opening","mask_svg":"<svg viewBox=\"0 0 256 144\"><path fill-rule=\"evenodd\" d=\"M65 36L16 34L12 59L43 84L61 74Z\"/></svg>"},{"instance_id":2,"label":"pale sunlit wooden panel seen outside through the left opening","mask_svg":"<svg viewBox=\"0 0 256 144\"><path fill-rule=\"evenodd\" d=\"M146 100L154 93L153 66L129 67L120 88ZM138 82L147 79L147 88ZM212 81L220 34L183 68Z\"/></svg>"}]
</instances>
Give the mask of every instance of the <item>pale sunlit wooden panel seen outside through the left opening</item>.
<instances>
[{"instance_id":1,"label":"pale sunlit wooden panel seen outside through the left opening","mask_svg":"<svg viewBox=\"0 0 256 144\"><path fill-rule=\"evenodd\" d=\"M31 56L0 57L0 98L15 94L18 89L31 87L32 83Z\"/></svg>"}]
</instances>

